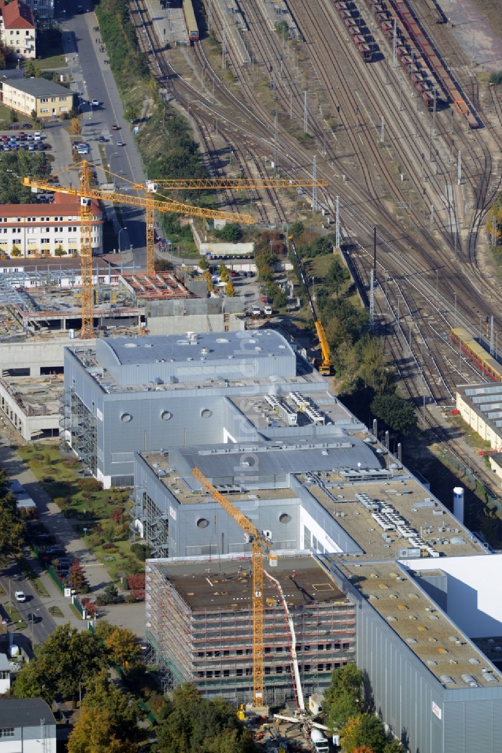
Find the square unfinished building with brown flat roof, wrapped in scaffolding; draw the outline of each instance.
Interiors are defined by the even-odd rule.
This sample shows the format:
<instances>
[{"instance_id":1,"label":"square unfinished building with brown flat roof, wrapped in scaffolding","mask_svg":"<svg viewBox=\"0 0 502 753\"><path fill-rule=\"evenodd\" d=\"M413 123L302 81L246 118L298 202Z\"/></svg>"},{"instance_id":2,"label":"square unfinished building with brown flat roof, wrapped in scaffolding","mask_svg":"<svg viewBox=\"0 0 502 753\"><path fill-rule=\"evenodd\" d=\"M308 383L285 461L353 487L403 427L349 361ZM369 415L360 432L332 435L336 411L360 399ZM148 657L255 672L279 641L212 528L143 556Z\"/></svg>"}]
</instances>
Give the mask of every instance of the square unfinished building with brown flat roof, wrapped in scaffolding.
<instances>
[{"instance_id":1,"label":"square unfinished building with brown flat roof, wrapped in scaffolding","mask_svg":"<svg viewBox=\"0 0 502 753\"><path fill-rule=\"evenodd\" d=\"M266 703L298 700L293 646L303 693L327 687L333 669L355 656L353 603L306 552L265 568L263 598ZM251 612L248 556L147 562L147 637L169 670L168 687L190 681L208 697L248 701Z\"/></svg>"}]
</instances>

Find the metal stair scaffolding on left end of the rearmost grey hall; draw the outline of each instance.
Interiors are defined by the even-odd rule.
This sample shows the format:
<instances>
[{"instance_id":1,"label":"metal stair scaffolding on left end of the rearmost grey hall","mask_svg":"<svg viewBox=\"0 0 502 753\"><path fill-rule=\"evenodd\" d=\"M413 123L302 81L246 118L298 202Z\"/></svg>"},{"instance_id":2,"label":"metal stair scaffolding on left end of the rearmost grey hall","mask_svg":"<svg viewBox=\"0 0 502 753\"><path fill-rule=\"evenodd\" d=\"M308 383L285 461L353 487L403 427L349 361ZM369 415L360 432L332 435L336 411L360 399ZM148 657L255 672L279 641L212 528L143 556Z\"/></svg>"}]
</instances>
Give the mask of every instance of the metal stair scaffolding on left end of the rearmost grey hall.
<instances>
[{"instance_id":1,"label":"metal stair scaffolding on left end of the rearmost grey hall","mask_svg":"<svg viewBox=\"0 0 502 753\"><path fill-rule=\"evenodd\" d=\"M65 387L61 395L59 418L59 445L62 450L71 447L84 470L97 475L97 422L81 398L71 388Z\"/></svg>"}]
</instances>

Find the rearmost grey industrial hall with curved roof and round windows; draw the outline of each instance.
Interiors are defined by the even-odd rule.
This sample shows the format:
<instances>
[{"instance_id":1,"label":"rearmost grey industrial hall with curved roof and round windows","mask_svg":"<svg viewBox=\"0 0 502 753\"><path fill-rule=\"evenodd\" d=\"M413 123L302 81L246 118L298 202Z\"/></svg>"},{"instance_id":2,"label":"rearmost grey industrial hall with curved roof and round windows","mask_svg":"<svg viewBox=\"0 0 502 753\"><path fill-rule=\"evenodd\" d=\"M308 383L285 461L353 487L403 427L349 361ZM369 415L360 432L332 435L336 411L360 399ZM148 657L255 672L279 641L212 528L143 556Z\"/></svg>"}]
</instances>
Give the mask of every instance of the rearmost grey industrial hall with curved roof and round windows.
<instances>
[{"instance_id":1,"label":"rearmost grey industrial hall with curved roof and round windows","mask_svg":"<svg viewBox=\"0 0 502 753\"><path fill-rule=\"evenodd\" d=\"M323 377L271 330L108 338L68 348L64 371L65 436L106 488L132 486L138 450L265 437L254 403L269 393L301 388L336 407ZM280 437L284 419L271 413L266 437ZM343 420L354 423L347 411ZM304 432L330 428L306 419ZM91 446L84 455L78 449Z\"/></svg>"}]
</instances>

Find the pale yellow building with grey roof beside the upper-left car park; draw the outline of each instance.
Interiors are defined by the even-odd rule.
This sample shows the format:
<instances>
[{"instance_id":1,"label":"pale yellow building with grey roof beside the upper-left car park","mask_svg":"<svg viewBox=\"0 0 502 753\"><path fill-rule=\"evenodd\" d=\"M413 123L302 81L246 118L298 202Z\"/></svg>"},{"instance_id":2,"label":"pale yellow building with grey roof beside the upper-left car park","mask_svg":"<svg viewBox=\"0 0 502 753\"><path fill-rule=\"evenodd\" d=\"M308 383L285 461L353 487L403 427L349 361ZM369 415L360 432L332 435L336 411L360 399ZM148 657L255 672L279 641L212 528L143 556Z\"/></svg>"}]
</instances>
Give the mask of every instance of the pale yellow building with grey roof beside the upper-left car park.
<instances>
[{"instance_id":1,"label":"pale yellow building with grey roof beside the upper-left car park","mask_svg":"<svg viewBox=\"0 0 502 753\"><path fill-rule=\"evenodd\" d=\"M35 111L41 120L71 112L73 98L71 90L42 76L25 78L23 81L2 81L2 102L5 107L29 117Z\"/></svg>"}]
</instances>

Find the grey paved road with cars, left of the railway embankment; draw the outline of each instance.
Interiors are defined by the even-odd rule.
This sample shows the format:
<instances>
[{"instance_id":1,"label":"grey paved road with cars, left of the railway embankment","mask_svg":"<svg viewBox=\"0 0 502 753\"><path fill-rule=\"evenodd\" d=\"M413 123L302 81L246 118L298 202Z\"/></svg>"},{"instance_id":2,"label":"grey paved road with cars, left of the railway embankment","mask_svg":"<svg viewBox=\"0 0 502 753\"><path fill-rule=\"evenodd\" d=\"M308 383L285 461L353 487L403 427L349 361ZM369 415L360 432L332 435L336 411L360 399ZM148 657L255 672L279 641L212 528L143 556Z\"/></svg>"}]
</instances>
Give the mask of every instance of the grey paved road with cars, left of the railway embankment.
<instances>
[{"instance_id":1,"label":"grey paved road with cars, left of the railway embankment","mask_svg":"<svg viewBox=\"0 0 502 753\"><path fill-rule=\"evenodd\" d=\"M120 177L138 183L145 182L145 175L141 166L138 151L135 148L129 122L123 117L122 103L111 75L110 66L105 64L106 53L99 51L99 32L93 32L96 17L93 13L72 15L75 8L73 0L63 0L62 10L65 10L65 20L62 22L63 47L68 58L68 65L75 81L75 88L85 102L98 99L98 108L84 104L83 140L90 144L90 158L97 165L101 164L99 155L99 136L110 140L105 145L110 169ZM117 124L119 131L112 131L111 126ZM125 147L117 146L117 141L123 140ZM141 208L122 206L124 226L120 244L122 250L133 247L135 265L145 264L145 212ZM112 249L107 249L111 251Z\"/></svg>"}]
</instances>

